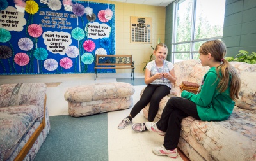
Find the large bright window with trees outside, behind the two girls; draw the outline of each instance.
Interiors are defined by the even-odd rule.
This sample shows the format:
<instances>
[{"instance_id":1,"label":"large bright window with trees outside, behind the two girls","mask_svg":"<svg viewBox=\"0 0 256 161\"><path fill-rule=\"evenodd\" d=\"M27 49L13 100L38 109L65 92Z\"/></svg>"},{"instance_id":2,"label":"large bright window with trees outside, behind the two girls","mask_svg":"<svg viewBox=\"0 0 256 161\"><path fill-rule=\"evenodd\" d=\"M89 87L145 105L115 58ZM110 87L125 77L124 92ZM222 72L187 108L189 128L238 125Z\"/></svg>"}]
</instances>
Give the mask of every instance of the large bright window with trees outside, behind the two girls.
<instances>
[{"instance_id":1,"label":"large bright window with trees outside, behind the two girls","mask_svg":"<svg viewBox=\"0 0 256 161\"><path fill-rule=\"evenodd\" d=\"M225 0L180 0L174 7L172 62L199 59L202 43L222 38Z\"/></svg>"}]
</instances>

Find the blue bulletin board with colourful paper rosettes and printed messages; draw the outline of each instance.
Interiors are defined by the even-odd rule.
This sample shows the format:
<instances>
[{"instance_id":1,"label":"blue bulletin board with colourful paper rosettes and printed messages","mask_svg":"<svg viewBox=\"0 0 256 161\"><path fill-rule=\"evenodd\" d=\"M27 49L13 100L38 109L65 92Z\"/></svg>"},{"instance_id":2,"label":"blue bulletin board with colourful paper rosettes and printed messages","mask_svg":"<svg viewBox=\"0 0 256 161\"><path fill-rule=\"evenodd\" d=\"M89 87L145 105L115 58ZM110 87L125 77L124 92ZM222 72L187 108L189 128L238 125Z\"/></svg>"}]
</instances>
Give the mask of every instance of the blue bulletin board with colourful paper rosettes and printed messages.
<instances>
[{"instance_id":1,"label":"blue bulletin board with colourful paper rosettes and printed messages","mask_svg":"<svg viewBox=\"0 0 256 161\"><path fill-rule=\"evenodd\" d=\"M95 55L115 55L114 4L1 1L1 75L94 73Z\"/></svg>"}]
</instances>

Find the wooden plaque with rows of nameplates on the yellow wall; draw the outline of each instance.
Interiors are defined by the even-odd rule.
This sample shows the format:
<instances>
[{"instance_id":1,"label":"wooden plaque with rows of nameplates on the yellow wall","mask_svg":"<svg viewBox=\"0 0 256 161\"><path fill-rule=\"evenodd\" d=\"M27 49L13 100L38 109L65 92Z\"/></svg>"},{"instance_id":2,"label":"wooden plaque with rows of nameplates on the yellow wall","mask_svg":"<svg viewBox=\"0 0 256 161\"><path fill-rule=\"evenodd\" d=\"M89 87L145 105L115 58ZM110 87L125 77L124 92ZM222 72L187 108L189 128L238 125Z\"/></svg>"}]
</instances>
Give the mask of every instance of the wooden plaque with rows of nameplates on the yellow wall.
<instances>
[{"instance_id":1,"label":"wooden plaque with rows of nameplates on the yellow wall","mask_svg":"<svg viewBox=\"0 0 256 161\"><path fill-rule=\"evenodd\" d=\"M152 18L131 16L131 43L151 43Z\"/></svg>"}]
</instances>

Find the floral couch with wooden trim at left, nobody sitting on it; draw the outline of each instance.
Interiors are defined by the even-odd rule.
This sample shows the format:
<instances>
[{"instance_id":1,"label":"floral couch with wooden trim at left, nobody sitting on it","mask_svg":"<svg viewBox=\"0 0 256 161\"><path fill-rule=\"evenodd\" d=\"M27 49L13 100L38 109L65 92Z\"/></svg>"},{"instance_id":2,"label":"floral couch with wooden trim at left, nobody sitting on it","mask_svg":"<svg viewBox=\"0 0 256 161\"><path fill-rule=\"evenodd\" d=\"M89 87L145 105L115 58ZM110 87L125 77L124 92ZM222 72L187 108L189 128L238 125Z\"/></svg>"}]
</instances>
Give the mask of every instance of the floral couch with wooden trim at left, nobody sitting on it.
<instances>
[{"instance_id":1,"label":"floral couch with wooden trim at left, nobody sitting on it","mask_svg":"<svg viewBox=\"0 0 256 161\"><path fill-rule=\"evenodd\" d=\"M49 130L44 83L0 85L0 160L33 160Z\"/></svg>"}]
</instances>

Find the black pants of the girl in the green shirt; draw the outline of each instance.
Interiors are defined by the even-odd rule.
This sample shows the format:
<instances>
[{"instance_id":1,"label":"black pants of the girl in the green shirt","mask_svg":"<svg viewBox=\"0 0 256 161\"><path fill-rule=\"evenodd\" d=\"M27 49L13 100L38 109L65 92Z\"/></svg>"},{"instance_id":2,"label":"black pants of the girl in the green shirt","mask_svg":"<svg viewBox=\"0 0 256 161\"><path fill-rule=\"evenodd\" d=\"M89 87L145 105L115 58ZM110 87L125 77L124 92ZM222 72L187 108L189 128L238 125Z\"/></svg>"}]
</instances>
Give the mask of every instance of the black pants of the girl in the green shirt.
<instances>
[{"instance_id":1,"label":"black pants of the girl in the green shirt","mask_svg":"<svg viewBox=\"0 0 256 161\"><path fill-rule=\"evenodd\" d=\"M177 148L180 138L181 121L188 116L193 116L193 118L200 120L194 102L181 97L171 97L168 100L160 120L156 123L159 130L166 132L164 147L167 150Z\"/></svg>"}]
</instances>

